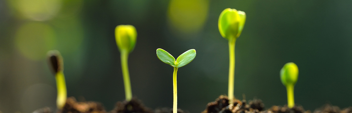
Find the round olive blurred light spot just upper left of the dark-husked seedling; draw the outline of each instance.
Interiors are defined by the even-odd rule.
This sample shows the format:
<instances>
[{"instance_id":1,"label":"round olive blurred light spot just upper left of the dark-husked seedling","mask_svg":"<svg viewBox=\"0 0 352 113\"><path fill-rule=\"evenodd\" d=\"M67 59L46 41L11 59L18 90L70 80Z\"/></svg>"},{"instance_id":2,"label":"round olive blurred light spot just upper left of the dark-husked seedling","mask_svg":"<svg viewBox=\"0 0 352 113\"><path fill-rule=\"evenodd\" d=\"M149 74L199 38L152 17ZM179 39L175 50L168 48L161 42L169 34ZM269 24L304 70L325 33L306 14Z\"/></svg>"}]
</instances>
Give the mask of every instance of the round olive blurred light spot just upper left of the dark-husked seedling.
<instances>
[{"instance_id":1,"label":"round olive blurred light spot just upper left of the dark-husked seedling","mask_svg":"<svg viewBox=\"0 0 352 113\"><path fill-rule=\"evenodd\" d=\"M31 60L46 58L46 52L55 46L56 36L51 26L30 22L21 26L15 35L19 52Z\"/></svg>"}]
</instances>

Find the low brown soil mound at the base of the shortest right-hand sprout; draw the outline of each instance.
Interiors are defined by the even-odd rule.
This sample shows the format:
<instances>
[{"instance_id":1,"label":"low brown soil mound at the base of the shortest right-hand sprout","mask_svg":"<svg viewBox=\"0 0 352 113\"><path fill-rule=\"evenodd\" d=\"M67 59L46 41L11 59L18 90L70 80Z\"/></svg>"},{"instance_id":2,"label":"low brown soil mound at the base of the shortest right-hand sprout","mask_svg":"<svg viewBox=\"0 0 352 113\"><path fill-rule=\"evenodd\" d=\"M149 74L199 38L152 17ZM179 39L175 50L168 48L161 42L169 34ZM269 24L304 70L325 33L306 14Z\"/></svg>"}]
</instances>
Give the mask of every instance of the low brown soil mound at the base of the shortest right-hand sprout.
<instances>
[{"instance_id":1,"label":"low brown soil mound at the base of the shortest right-hand sprout","mask_svg":"<svg viewBox=\"0 0 352 113\"><path fill-rule=\"evenodd\" d=\"M295 105L293 108L288 108L287 105L284 107L281 106L272 106L268 111L273 113L310 113L310 111L305 111L302 106Z\"/></svg>"}]
</instances>

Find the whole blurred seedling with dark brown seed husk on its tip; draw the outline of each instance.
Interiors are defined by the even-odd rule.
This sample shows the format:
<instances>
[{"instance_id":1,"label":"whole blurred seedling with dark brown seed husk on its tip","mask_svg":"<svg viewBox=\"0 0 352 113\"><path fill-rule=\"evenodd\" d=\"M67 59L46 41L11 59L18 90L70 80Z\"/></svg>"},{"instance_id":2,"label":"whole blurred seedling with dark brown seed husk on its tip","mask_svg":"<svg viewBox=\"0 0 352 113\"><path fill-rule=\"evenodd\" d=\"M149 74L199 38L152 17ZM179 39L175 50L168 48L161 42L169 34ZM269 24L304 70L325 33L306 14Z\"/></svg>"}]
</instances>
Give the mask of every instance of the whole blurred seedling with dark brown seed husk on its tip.
<instances>
[{"instance_id":1,"label":"whole blurred seedling with dark brown seed husk on its tip","mask_svg":"<svg viewBox=\"0 0 352 113\"><path fill-rule=\"evenodd\" d=\"M64 64L62 56L59 51L51 50L48 52L49 67L51 67L52 72L55 74L56 87L57 87L57 98L56 106L58 109L62 109L66 103L67 90L66 82L64 76Z\"/></svg>"}]
</instances>

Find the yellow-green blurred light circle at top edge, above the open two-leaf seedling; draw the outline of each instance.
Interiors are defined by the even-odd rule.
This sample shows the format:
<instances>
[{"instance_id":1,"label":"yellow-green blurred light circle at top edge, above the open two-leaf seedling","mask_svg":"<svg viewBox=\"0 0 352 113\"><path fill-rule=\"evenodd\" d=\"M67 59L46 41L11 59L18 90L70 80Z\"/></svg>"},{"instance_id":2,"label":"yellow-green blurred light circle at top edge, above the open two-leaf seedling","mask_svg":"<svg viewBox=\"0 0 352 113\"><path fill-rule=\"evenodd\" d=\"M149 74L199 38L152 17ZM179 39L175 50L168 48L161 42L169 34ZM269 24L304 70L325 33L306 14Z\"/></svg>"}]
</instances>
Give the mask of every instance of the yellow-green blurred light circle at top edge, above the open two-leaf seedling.
<instances>
[{"instance_id":1,"label":"yellow-green blurred light circle at top edge, above the open two-leaf seedling","mask_svg":"<svg viewBox=\"0 0 352 113\"><path fill-rule=\"evenodd\" d=\"M184 33L199 32L207 20L209 0L171 0L168 9L170 27Z\"/></svg>"}]
</instances>

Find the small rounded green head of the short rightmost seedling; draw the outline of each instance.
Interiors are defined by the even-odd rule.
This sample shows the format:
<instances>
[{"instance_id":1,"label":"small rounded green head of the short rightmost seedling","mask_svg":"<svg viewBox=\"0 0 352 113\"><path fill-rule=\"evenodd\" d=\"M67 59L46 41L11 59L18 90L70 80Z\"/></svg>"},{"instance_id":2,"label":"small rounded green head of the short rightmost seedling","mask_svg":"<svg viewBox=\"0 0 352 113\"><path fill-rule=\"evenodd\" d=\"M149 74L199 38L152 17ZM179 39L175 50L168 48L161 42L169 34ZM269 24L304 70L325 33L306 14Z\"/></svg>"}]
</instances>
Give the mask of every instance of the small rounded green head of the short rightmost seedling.
<instances>
[{"instance_id":1,"label":"small rounded green head of the short rightmost seedling","mask_svg":"<svg viewBox=\"0 0 352 113\"><path fill-rule=\"evenodd\" d=\"M289 62L280 71L280 78L283 85L295 85L298 79L298 67L295 63Z\"/></svg>"}]
</instances>

